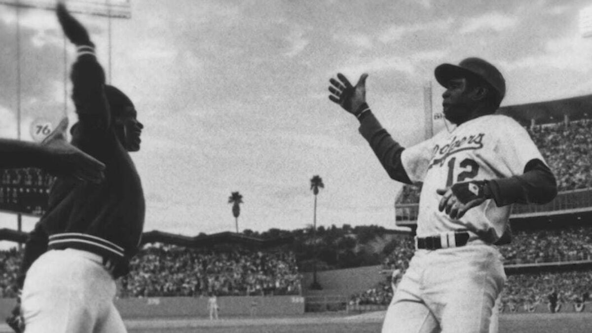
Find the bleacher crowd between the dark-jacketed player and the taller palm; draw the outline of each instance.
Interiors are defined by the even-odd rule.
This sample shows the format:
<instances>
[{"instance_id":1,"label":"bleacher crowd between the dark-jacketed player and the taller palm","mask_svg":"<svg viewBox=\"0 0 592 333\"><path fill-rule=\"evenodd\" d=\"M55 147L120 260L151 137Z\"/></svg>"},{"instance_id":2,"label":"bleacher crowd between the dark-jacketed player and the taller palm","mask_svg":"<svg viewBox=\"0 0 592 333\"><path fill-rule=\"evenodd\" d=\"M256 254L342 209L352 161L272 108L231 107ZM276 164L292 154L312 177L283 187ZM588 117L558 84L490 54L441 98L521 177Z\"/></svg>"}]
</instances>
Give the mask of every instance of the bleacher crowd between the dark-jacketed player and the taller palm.
<instances>
[{"instance_id":1,"label":"bleacher crowd between the dark-jacketed player and the taller palm","mask_svg":"<svg viewBox=\"0 0 592 333\"><path fill-rule=\"evenodd\" d=\"M301 275L292 252L147 246L133 258L130 268L130 274L121 279L122 297L301 292Z\"/></svg>"}]
</instances>

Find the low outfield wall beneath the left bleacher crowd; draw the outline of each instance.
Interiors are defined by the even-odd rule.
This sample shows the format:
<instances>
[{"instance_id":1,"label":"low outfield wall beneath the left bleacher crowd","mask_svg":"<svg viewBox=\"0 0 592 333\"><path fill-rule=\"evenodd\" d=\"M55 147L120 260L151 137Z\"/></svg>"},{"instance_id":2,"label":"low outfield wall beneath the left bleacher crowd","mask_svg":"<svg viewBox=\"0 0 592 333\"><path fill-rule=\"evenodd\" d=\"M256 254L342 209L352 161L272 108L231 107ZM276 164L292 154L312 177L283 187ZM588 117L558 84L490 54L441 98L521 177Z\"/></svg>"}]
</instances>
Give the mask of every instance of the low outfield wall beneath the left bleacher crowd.
<instances>
[{"instance_id":1,"label":"low outfield wall beneath the left bleacher crowd","mask_svg":"<svg viewBox=\"0 0 592 333\"><path fill-rule=\"evenodd\" d=\"M304 313L300 296L224 296L218 297L219 315L249 316L256 301L257 316L289 316ZM14 299L0 299L0 319L9 316ZM146 297L115 300L123 318L163 318L209 316L207 297Z\"/></svg>"}]
</instances>

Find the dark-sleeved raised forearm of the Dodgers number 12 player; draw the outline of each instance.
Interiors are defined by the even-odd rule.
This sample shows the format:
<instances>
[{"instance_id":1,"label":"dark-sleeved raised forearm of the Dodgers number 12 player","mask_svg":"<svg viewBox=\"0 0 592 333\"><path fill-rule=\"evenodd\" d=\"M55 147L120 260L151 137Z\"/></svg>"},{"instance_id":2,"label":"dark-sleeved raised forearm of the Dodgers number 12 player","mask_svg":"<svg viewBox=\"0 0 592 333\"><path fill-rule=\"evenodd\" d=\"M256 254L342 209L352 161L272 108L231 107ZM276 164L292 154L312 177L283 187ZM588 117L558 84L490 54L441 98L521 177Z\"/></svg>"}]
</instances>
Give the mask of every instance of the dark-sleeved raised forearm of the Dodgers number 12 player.
<instances>
[{"instance_id":1,"label":"dark-sleeved raised forearm of the Dodgers number 12 player","mask_svg":"<svg viewBox=\"0 0 592 333\"><path fill-rule=\"evenodd\" d=\"M387 130L382 128L372 111L365 111L358 119L360 121L360 133L368 141L372 151L374 151L388 175L396 181L411 184L411 180L409 180L407 172L401 163L401 153L405 148L401 147L392 139Z\"/></svg>"}]
</instances>

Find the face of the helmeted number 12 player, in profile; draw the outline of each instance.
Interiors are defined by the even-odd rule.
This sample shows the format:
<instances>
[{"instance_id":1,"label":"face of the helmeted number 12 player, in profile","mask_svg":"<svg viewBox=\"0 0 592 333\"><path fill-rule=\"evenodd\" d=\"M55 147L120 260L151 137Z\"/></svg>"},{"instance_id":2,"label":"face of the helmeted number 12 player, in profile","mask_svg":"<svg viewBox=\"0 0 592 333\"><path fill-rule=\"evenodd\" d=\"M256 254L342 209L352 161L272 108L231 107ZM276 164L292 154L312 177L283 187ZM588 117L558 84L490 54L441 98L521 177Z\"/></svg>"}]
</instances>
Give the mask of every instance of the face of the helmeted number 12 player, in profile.
<instances>
[{"instance_id":1,"label":"face of the helmeted number 12 player, in profile","mask_svg":"<svg viewBox=\"0 0 592 333\"><path fill-rule=\"evenodd\" d=\"M455 124L466 121L474 111L475 101L470 96L466 78L455 78L448 81L446 91L442 94L442 112L444 117Z\"/></svg>"}]
</instances>

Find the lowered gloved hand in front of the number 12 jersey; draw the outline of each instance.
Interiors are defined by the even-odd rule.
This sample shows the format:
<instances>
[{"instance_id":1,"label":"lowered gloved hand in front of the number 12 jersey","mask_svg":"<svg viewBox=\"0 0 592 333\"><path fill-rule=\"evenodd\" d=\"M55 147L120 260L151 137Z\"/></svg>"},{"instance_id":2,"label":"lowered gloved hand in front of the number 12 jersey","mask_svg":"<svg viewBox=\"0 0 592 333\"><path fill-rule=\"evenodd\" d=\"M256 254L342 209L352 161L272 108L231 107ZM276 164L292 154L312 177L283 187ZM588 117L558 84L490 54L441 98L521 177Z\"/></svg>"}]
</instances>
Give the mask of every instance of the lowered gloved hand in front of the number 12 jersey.
<instances>
[{"instance_id":1,"label":"lowered gloved hand in front of the number 12 jersey","mask_svg":"<svg viewBox=\"0 0 592 333\"><path fill-rule=\"evenodd\" d=\"M438 210L446 211L452 219L460 219L472 207L479 206L485 200L485 181L458 182L452 187L439 188L437 194L442 196Z\"/></svg>"}]
</instances>

